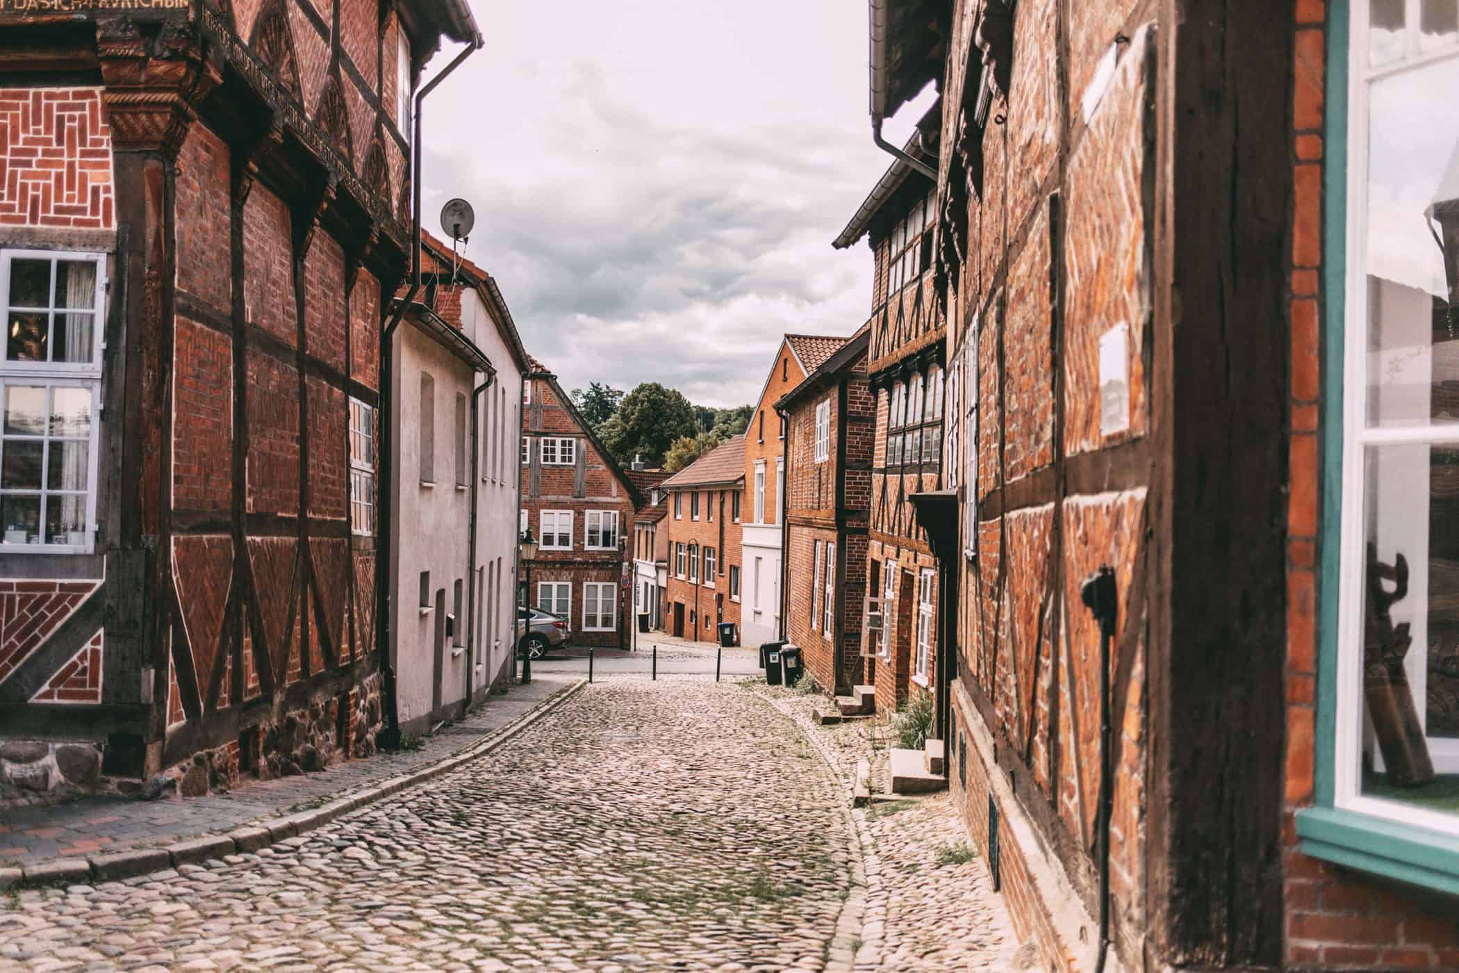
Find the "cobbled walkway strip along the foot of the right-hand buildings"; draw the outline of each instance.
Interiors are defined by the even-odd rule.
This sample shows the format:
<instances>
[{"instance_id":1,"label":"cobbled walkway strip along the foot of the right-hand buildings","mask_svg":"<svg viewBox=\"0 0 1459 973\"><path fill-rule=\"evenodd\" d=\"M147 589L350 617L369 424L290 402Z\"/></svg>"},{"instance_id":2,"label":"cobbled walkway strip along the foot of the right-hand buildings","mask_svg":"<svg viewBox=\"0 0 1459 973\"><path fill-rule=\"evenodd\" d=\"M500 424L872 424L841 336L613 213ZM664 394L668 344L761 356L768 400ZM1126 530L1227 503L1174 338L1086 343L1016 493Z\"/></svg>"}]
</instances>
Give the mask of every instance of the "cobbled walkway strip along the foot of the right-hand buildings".
<instances>
[{"instance_id":1,"label":"cobbled walkway strip along the foot of the right-hand buildings","mask_svg":"<svg viewBox=\"0 0 1459 973\"><path fill-rule=\"evenodd\" d=\"M872 791L886 791L890 729L884 715L821 726L811 722L811 710L827 708L823 696L750 687L795 718L848 791L859 759L871 763ZM980 849L969 840L945 792L877 801L855 808L852 818L865 885L855 896L858 973L1032 969L1034 954L1017 948Z\"/></svg>"}]
</instances>

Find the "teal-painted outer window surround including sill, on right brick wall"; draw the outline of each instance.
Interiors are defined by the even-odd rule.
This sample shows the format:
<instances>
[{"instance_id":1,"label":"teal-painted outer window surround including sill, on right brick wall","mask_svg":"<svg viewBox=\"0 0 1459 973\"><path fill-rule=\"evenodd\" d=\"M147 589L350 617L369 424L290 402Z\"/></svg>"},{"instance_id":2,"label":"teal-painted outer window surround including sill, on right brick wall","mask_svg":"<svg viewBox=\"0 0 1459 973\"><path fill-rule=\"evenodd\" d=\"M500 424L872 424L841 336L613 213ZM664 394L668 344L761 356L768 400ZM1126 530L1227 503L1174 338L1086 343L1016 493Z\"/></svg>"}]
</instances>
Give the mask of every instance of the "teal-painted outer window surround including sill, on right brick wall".
<instances>
[{"instance_id":1,"label":"teal-painted outer window surround including sill, on right brick wall","mask_svg":"<svg viewBox=\"0 0 1459 973\"><path fill-rule=\"evenodd\" d=\"M1348 35L1351 0L1329 0L1323 123L1322 557L1317 563L1315 805L1297 811L1303 853L1459 894L1459 839L1335 807L1338 591L1342 546L1342 376L1347 322Z\"/></svg>"}]
</instances>

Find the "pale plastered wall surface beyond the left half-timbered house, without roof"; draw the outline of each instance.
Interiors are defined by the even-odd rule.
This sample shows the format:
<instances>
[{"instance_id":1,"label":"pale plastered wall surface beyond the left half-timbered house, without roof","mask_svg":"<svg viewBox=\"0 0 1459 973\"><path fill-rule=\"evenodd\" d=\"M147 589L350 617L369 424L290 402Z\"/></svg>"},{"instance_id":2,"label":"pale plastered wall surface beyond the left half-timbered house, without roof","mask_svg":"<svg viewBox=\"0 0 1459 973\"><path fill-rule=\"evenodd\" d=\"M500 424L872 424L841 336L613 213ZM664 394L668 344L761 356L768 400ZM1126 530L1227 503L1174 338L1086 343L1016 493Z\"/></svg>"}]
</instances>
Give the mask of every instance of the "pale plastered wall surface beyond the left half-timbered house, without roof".
<instances>
[{"instance_id":1,"label":"pale plastered wall surface beyond the left half-timbered house, without roof","mask_svg":"<svg viewBox=\"0 0 1459 973\"><path fill-rule=\"evenodd\" d=\"M477 436L470 435L471 392L484 373L451 354L409 321L395 331L391 382L394 427L391 436L392 506L397 522L391 551L391 632L395 637L397 706L406 732L429 729L442 713L458 713L509 668L512 645L512 592L516 567L518 477L516 449L521 427L522 379L519 365L498 333L474 290L463 293L463 333L496 366L492 385L477 403ZM435 484L420 478L422 371L435 381ZM457 395L465 395L467 441L458 471ZM471 476L473 446L476 481ZM477 495L476 576L468 578L471 490ZM430 572L429 605L420 604L420 572ZM461 605L455 611L455 585ZM476 602L473 602L473 588ZM446 637L441 667L441 705L436 699L438 592L444 610L455 614L455 635ZM473 611L473 607L476 611ZM468 652L470 645L470 652Z\"/></svg>"}]
</instances>

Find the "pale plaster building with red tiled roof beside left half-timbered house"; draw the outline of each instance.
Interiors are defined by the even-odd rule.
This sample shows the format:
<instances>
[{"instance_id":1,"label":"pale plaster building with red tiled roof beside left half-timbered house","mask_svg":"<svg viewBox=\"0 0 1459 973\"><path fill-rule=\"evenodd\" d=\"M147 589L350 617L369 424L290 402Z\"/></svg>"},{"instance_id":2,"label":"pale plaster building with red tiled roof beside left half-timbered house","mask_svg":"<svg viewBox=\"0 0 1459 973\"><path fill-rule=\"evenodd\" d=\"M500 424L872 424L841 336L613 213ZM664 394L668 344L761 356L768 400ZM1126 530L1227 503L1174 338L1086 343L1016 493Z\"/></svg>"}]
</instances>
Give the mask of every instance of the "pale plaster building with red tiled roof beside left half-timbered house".
<instances>
[{"instance_id":1,"label":"pale plaster building with red tiled roof beside left half-timbered house","mask_svg":"<svg viewBox=\"0 0 1459 973\"><path fill-rule=\"evenodd\" d=\"M528 371L490 274L433 238L423 251L427 283L391 354L390 630L407 735L511 675Z\"/></svg>"}]
</instances>

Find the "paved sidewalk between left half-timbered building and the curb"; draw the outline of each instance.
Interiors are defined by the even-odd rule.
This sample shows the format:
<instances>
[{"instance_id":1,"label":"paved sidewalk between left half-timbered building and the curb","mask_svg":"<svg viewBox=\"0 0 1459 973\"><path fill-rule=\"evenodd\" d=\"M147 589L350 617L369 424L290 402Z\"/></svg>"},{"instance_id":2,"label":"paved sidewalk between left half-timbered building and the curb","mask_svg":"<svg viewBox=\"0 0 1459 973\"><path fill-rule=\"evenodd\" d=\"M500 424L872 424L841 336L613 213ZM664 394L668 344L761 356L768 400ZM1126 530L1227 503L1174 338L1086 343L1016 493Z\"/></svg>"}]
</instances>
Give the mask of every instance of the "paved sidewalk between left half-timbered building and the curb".
<instances>
[{"instance_id":1,"label":"paved sidewalk between left half-timbered building and the curb","mask_svg":"<svg viewBox=\"0 0 1459 973\"><path fill-rule=\"evenodd\" d=\"M514 686L505 694L490 696L465 719L420 740L414 750L349 760L320 773L248 780L226 794L201 798L171 796L143 802L95 796L50 807L10 808L0 813L0 868L171 845L197 834L229 831L296 805L322 804L435 763L490 737L573 681L569 675L541 674L530 686Z\"/></svg>"}]
</instances>

